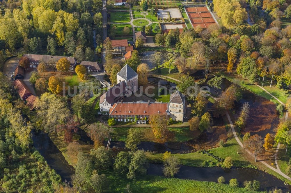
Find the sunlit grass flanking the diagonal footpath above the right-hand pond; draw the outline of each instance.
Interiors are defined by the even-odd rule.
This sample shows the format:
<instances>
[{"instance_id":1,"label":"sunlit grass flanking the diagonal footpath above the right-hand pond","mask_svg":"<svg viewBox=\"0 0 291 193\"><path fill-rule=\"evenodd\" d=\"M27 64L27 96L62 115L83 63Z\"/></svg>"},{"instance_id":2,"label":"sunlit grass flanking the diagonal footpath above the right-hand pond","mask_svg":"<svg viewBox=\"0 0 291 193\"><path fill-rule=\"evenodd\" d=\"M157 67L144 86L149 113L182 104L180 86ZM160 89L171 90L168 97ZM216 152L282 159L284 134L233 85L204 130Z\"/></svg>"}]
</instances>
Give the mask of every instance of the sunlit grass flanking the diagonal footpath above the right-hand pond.
<instances>
[{"instance_id":1,"label":"sunlit grass flanking the diagonal footpath above the right-hand pond","mask_svg":"<svg viewBox=\"0 0 291 193\"><path fill-rule=\"evenodd\" d=\"M255 93L258 96L264 97L264 98L272 101L273 103L280 104L276 99L274 99L267 92L265 92L264 90L259 88L257 85L250 84L248 80L244 80L242 78L237 79L237 78L234 78L233 76L230 76L229 74L224 73L224 72L222 72L221 75L224 75L229 81L235 82L235 83L243 86L244 88L250 90L251 92ZM260 86L262 86L261 83L260 83ZM283 103L286 103L286 100L288 97L287 91L279 89L279 88L275 87L274 85L272 85L272 87L270 88L270 84L268 84L267 79L265 79L263 88L265 88L269 93L271 93L272 95L277 97Z\"/></svg>"}]
</instances>

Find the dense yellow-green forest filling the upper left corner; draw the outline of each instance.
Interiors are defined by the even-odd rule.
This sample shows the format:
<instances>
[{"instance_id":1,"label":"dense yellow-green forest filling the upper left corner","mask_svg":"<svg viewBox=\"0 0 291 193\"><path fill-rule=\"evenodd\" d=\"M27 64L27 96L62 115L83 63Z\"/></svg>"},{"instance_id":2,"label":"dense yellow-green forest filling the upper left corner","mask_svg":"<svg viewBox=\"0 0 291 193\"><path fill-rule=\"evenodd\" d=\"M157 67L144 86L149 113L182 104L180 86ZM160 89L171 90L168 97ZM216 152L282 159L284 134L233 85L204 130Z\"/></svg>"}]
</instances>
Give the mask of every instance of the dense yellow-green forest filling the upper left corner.
<instances>
[{"instance_id":1,"label":"dense yellow-green forest filling the upper left corner","mask_svg":"<svg viewBox=\"0 0 291 193\"><path fill-rule=\"evenodd\" d=\"M82 60L84 52L95 52L95 43L100 47L101 10L101 0L0 2L0 61L24 53Z\"/></svg>"}]
</instances>

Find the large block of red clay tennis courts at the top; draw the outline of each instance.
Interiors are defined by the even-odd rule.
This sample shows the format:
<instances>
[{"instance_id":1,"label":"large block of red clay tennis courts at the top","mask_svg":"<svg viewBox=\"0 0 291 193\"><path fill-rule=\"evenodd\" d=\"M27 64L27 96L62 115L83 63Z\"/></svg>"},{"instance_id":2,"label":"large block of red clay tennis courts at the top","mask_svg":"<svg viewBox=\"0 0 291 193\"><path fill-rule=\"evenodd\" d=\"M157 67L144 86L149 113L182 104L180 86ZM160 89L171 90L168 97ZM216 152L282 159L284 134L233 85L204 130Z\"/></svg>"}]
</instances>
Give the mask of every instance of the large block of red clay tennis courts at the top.
<instances>
[{"instance_id":1,"label":"large block of red clay tennis courts at the top","mask_svg":"<svg viewBox=\"0 0 291 193\"><path fill-rule=\"evenodd\" d=\"M215 23L212 15L206 7L185 7L193 27L201 26L207 28Z\"/></svg>"}]
</instances>

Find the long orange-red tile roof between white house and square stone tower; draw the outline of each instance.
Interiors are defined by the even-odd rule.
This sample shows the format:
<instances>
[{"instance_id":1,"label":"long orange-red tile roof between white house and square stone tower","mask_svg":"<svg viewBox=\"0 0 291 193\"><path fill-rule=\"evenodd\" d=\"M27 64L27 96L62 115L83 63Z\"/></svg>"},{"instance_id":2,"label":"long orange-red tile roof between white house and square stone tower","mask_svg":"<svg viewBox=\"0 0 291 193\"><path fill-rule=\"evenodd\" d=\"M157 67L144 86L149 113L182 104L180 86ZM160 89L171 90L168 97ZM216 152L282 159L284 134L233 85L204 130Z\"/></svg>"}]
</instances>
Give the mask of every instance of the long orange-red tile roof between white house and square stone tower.
<instances>
[{"instance_id":1,"label":"long orange-red tile roof between white house and square stone tower","mask_svg":"<svg viewBox=\"0 0 291 193\"><path fill-rule=\"evenodd\" d=\"M115 103L110 115L152 115L167 114L168 103Z\"/></svg>"}]
</instances>

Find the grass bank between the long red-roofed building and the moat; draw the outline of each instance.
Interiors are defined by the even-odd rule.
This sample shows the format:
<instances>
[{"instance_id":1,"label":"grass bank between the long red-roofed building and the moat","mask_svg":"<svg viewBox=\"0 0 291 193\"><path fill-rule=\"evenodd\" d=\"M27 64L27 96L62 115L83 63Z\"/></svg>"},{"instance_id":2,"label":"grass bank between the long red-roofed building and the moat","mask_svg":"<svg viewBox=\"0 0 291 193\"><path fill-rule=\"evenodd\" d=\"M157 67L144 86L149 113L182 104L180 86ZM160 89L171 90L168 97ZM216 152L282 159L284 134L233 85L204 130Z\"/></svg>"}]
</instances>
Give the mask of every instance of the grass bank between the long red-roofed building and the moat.
<instances>
[{"instance_id":1,"label":"grass bank between the long red-roofed building and the moat","mask_svg":"<svg viewBox=\"0 0 291 193\"><path fill-rule=\"evenodd\" d=\"M112 141L125 141L127 137L127 130L130 128L117 127L113 128ZM151 128L134 128L141 134L141 141L159 142L154 136ZM167 141L180 142L189 141L197 137L200 132L190 131L189 128L169 128L169 138Z\"/></svg>"}]
</instances>

